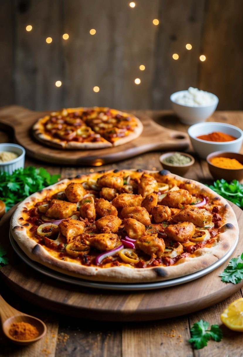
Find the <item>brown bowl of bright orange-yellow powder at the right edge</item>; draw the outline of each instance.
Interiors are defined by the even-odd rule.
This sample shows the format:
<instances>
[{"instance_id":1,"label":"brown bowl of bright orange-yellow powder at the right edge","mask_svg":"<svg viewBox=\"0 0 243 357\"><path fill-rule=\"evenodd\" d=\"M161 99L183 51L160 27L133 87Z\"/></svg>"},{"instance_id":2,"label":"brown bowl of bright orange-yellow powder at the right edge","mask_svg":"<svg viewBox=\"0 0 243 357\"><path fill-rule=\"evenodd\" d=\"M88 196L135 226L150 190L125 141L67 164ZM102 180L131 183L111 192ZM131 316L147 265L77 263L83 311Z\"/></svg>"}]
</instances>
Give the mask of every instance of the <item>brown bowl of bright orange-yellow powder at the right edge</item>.
<instances>
[{"instance_id":1,"label":"brown bowl of bright orange-yellow powder at the right edge","mask_svg":"<svg viewBox=\"0 0 243 357\"><path fill-rule=\"evenodd\" d=\"M243 180L243 155L237 152L216 151L207 156L208 169L214 180Z\"/></svg>"}]
</instances>

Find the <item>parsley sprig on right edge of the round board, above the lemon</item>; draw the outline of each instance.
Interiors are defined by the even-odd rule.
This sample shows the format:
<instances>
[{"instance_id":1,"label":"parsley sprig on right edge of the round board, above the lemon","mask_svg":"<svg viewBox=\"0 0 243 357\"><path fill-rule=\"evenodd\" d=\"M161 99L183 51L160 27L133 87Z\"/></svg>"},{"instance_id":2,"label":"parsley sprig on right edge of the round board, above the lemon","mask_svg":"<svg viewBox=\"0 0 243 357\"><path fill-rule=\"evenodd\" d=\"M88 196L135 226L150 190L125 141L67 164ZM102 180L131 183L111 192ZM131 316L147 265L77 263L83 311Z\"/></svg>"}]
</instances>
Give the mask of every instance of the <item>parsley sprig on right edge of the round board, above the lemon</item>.
<instances>
[{"instance_id":1,"label":"parsley sprig on right edge of the round board, above the lemon","mask_svg":"<svg viewBox=\"0 0 243 357\"><path fill-rule=\"evenodd\" d=\"M237 258L232 258L219 276L224 283L240 283L243 279L243 253Z\"/></svg>"}]
</instances>

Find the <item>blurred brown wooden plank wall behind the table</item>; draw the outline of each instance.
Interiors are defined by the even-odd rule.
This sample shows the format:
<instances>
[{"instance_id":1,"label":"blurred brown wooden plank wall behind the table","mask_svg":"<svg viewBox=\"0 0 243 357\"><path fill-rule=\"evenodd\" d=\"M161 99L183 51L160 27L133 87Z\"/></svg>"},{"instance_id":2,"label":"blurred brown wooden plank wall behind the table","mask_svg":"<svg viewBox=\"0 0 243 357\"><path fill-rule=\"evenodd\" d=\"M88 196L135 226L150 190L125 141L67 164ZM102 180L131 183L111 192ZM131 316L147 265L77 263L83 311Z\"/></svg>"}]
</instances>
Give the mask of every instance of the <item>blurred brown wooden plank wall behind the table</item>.
<instances>
[{"instance_id":1,"label":"blurred brown wooden plank wall behind the table","mask_svg":"<svg viewBox=\"0 0 243 357\"><path fill-rule=\"evenodd\" d=\"M242 110L243 1L134 1L1 0L0 105L169 109L171 93L195 86Z\"/></svg>"}]
</instances>

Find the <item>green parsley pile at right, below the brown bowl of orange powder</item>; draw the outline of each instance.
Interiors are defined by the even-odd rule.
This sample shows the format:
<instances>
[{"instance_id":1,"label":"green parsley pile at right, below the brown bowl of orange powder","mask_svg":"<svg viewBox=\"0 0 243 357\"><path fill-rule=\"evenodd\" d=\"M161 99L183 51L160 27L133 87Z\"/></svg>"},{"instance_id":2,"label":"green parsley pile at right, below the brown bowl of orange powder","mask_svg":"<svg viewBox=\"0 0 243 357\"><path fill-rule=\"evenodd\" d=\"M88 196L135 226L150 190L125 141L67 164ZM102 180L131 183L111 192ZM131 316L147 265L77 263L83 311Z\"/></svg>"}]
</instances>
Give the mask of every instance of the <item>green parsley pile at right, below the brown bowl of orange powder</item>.
<instances>
[{"instance_id":1,"label":"green parsley pile at right, below the brown bowl of orange powder","mask_svg":"<svg viewBox=\"0 0 243 357\"><path fill-rule=\"evenodd\" d=\"M208 187L237 206L243 207L243 185L239 181L233 180L228 183L222 178L213 182L213 185Z\"/></svg>"}]
</instances>

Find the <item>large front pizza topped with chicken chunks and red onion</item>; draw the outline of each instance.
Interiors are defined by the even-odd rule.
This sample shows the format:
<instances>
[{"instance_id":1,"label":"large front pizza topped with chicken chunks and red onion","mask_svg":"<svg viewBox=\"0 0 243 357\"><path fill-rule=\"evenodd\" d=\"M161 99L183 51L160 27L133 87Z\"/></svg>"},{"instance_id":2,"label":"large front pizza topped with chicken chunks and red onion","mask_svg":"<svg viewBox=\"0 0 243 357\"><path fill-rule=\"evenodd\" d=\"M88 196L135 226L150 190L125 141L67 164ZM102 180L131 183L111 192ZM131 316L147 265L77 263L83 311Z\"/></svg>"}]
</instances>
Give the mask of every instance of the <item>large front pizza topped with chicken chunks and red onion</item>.
<instances>
[{"instance_id":1,"label":"large front pizza topped with chicken chunks and red onion","mask_svg":"<svg viewBox=\"0 0 243 357\"><path fill-rule=\"evenodd\" d=\"M92 281L154 282L203 270L238 240L228 202L167 170L64 179L17 207L11 234L33 261Z\"/></svg>"}]
</instances>

